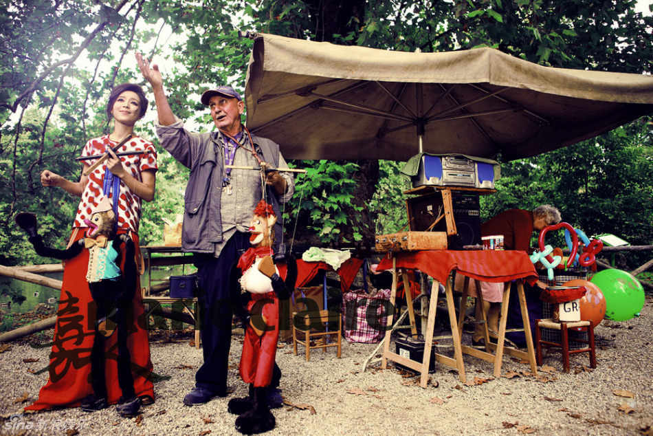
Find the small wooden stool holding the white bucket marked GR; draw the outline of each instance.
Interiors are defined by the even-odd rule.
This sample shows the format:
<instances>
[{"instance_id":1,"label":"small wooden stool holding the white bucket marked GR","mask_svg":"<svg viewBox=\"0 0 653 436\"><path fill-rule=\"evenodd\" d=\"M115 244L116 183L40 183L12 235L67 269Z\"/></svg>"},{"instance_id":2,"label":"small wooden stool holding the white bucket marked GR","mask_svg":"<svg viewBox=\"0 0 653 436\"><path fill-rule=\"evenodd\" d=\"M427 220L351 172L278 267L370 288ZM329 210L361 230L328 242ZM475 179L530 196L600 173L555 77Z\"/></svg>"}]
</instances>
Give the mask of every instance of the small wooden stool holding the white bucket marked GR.
<instances>
[{"instance_id":1,"label":"small wooden stool holding the white bucket marked GR","mask_svg":"<svg viewBox=\"0 0 653 436\"><path fill-rule=\"evenodd\" d=\"M538 365L542 365L542 346L544 347L560 347L562 349L562 370L566 373L569 372L569 355L575 353L590 353L590 367L597 367L597 356L594 347L594 324L592 321L573 321L565 322L561 321L560 323L555 323L553 320L543 319L535 321L535 359L538 362ZM587 340L579 338L570 338L568 329L583 327L587 331ZM550 342L542 339L542 330L546 329L555 329L560 330L560 343ZM571 342L580 342L587 344L587 347L582 349L572 350L569 349L569 341Z\"/></svg>"}]
</instances>

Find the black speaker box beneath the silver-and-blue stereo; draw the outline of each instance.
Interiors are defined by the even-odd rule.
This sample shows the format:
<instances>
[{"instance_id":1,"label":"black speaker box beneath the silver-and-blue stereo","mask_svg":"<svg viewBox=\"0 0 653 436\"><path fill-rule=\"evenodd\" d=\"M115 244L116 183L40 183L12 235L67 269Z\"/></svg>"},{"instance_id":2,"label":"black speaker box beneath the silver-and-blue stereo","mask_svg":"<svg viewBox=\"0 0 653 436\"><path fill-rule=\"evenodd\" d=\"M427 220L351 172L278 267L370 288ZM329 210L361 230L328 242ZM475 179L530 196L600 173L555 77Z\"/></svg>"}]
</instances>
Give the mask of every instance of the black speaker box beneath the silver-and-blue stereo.
<instances>
[{"instance_id":1,"label":"black speaker box beneath the silver-and-blue stereo","mask_svg":"<svg viewBox=\"0 0 653 436\"><path fill-rule=\"evenodd\" d=\"M463 250L464 246L480 245L480 202L478 194L460 190L451 191L452 213L456 223L456 235L448 240L449 250ZM442 193L437 191L406 199L410 230L423 232L444 214ZM446 219L441 219L433 232L446 232Z\"/></svg>"}]
</instances>

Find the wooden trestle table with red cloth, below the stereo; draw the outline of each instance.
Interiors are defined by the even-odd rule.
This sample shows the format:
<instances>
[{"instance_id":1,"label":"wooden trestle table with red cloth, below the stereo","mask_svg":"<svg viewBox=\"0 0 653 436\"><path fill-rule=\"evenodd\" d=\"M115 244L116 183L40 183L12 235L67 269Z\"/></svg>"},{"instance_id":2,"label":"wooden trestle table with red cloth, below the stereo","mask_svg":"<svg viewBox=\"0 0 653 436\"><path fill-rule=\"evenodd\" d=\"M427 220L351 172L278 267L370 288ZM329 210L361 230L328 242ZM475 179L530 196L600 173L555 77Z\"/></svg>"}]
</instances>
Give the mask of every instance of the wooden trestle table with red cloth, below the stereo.
<instances>
[{"instance_id":1,"label":"wooden trestle table with red cloth, below the stereo","mask_svg":"<svg viewBox=\"0 0 653 436\"><path fill-rule=\"evenodd\" d=\"M420 386L423 388L426 387L428 382L428 367L432 354L431 349L433 345L433 330L435 326L439 286L440 283L445 283L447 309L450 318L452 341L454 342L454 358L436 353L436 362L440 362L449 367L458 369L458 377L460 378L461 382L466 381L465 366L463 364L463 353L469 354L470 356L474 356L476 358L487 360L489 362L493 362L495 377L499 377L501 374L501 364L504 353L527 360L531 365L531 372L537 373L537 365L535 364L535 350L533 348L533 338L531 336L531 328L529 324L529 314L526 305L526 298L524 297L523 279L534 282L538 279L538 274L535 272L535 268L533 267L533 264L531 263L531 260L526 253L512 250L427 250L419 252L398 252L388 254L388 256L384 257L384 259L382 259L379 263L377 270L392 270L392 275L395 279L392 283L390 303L393 305L393 307L395 305L397 281L399 280L400 270L419 270L425 274L428 274L428 276L432 277L433 279L430 295L430 310L428 311L428 323L425 331L423 361L414 362L413 360L404 358L403 356L399 356L399 354L390 351L392 317L388 316L388 330L386 331L383 357L381 358L381 367L383 369L387 367L388 360L403 364L406 367L421 372ZM464 309L461 309L460 318L456 317L451 280L451 273L454 270L457 274L463 274L466 277L471 277L472 279L476 279L478 281L506 283L501 307L498 345L489 343L487 323L485 323L485 343L487 344L485 351L461 345L461 327L463 324L463 316L465 311ZM406 274L402 273L401 275L403 280L406 281ZM522 320L524 322L524 334L526 335L527 341L527 351L520 351L512 347L505 347L504 345L508 301L511 287L510 282L513 280L517 282ZM478 294L481 295L479 288L480 285L477 287L477 290ZM409 294L410 292L406 292L407 296ZM464 307L466 297L467 292L464 292L461 307ZM414 334L416 329L414 328L414 314L410 297L406 298L406 303L408 305L408 311L411 314L410 320ZM491 351L495 351L495 353L493 354Z\"/></svg>"}]
</instances>

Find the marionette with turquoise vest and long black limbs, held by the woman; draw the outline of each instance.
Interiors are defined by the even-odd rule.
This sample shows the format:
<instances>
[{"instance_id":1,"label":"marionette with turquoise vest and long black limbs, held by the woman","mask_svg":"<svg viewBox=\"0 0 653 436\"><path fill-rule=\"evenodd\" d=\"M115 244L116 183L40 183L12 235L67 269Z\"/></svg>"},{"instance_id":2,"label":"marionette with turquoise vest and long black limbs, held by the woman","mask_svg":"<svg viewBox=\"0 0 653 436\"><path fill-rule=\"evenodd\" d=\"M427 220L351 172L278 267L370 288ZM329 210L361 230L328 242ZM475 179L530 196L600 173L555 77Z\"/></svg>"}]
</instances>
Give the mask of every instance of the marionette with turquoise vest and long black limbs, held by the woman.
<instances>
[{"instance_id":1,"label":"marionette with turquoise vest and long black limbs, held by the woman","mask_svg":"<svg viewBox=\"0 0 653 436\"><path fill-rule=\"evenodd\" d=\"M66 250L45 246L43 238L36 230L36 216L31 213L16 215L16 224L27 232L29 241L39 256L68 260L78 256L85 248L89 250L86 279L96 305L95 336L91 349L93 393L81 400L80 407L86 412L107 407L107 382L104 377L105 342L117 330L118 384L122 397L116 410L122 416L131 416L140 409L140 400L136 397L131 373L131 357L127 347L129 326L126 323L127 312L136 292L135 246L126 234L115 237L115 214L107 197L102 198L89 218L85 219L88 226L86 237L79 239ZM121 271L122 246L125 261Z\"/></svg>"}]
</instances>

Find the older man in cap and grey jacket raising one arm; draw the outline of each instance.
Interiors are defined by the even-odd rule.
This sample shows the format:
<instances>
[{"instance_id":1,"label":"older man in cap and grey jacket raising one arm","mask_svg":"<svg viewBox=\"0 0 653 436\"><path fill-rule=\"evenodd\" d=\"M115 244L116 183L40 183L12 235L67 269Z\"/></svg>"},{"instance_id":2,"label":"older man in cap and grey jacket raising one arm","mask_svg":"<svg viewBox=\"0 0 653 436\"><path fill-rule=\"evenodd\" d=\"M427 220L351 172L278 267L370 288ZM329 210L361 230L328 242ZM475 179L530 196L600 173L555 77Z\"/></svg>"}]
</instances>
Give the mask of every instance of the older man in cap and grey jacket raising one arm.
<instances>
[{"instance_id":1,"label":"older man in cap and grey jacket raising one arm","mask_svg":"<svg viewBox=\"0 0 653 436\"><path fill-rule=\"evenodd\" d=\"M201 96L203 105L210 107L217 131L190 132L170 109L157 65L150 68L140 54L136 54L136 59L154 92L159 142L190 168L184 198L182 250L192 252L197 267L204 355L204 363L195 375L195 388L184 397L184 404L192 406L228 394L232 329L229 271L239 258L239 250L250 248L247 230L258 201L265 195L277 217L281 217L279 204L291 198L294 182L288 173L268 171L261 177L258 171L227 168L288 167L278 144L250 135L243 126L241 114L245 104L232 87L219 86ZM277 382L279 377L280 373Z\"/></svg>"}]
</instances>

